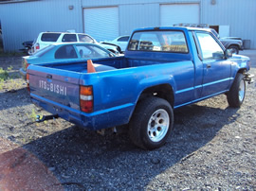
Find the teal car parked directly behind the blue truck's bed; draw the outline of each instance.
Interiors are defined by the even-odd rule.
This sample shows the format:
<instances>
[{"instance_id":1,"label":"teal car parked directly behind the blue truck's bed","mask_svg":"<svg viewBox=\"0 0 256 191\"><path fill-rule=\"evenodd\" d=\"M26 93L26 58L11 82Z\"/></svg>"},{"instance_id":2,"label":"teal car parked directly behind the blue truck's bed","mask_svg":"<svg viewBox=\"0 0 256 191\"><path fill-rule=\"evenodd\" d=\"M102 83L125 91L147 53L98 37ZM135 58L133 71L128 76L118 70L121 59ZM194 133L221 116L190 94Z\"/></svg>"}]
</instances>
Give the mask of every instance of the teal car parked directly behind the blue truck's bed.
<instances>
[{"instance_id":1,"label":"teal car parked directly behind the blue truck's bed","mask_svg":"<svg viewBox=\"0 0 256 191\"><path fill-rule=\"evenodd\" d=\"M29 64L86 61L115 57L115 54L93 43L53 43L31 56L23 57L20 74L26 80Z\"/></svg>"}]
</instances>

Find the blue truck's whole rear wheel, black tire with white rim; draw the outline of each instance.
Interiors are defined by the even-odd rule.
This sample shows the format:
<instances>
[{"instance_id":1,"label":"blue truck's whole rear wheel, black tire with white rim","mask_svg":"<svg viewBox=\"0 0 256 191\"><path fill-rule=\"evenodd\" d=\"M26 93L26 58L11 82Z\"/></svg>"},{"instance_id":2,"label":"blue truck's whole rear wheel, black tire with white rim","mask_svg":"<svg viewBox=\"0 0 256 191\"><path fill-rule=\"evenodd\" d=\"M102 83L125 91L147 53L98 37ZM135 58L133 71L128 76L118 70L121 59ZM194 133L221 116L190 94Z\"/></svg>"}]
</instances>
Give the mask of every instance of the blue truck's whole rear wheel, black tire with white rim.
<instances>
[{"instance_id":1,"label":"blue truck's whole rear wheel, black tire with white rim","mask_svg":"<svg viewBox=\"0 0 256 191\"><path fill-rule=\"evenodd\" d=\"M169 102L152 96L138 103L129 123L129 136L139 148L160 148L173 126L174 112Z\"/></svg>"}]
</instances>

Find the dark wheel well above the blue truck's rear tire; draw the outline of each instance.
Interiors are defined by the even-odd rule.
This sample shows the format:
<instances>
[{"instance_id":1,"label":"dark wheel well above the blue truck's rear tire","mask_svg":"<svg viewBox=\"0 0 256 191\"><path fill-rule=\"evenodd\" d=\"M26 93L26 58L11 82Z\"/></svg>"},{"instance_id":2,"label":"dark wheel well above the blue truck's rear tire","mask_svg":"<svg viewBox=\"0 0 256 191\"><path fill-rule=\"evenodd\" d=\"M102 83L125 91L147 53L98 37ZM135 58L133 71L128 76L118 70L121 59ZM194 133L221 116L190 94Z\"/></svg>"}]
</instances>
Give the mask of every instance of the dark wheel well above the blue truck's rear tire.
<instances>
[{"instance_id":1,"label":"dark wheel well above the blue truck's rear tire","mask_svg":"<svg viewBox=\"0 0 256 191\"><path fill-rule=\"evenodd\" d=\"M145 89L138 98L138 101L148 97L157 96L167 100L174 107L174 91L170 84L161 84Z\"/></svg>"}]
</instances>

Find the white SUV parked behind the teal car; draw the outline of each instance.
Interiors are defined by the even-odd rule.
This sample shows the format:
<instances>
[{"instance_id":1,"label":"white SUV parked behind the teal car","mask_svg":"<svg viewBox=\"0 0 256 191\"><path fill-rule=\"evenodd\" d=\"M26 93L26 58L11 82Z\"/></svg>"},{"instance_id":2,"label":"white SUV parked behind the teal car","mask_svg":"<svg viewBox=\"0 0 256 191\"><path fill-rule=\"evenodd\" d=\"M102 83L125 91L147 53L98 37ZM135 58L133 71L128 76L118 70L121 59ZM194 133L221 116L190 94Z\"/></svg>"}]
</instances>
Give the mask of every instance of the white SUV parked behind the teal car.
<instances>
[{"instance_id":1,"label":"white SUV parked behind the teal car","mask_svg":"<svg viewBox=\"0 0 256 191\"><path fill-rule=\"evenodd\" d=\"M120 53L120 48L116 44L111 43L98 43L91 36L84 33L71 33L71 32L41 32L39 33L35 43L32 46L31 53L35 53L38 50L50 45L52 43L70 43L70 42L82 42L82 43L95 43L101 45L103 48L115 53Z\"/></svg>"}]
</instances>

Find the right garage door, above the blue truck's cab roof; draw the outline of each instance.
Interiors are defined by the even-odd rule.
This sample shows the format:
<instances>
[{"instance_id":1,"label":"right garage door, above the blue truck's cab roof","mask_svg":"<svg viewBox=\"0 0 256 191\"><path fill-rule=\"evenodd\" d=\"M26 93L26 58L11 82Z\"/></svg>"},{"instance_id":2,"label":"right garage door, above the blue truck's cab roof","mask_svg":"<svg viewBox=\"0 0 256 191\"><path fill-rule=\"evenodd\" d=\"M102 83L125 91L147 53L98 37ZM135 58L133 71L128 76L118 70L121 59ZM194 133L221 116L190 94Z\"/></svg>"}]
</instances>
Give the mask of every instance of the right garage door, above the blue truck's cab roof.
<instances>
[{"instance_id":1,"label":"right garage door, above the blue truck's cab roof","mask_svg":"<svg viewBox=\"0 0 256 191\"><path fill-rule=\"evenodd\" d=\"M174 4L160 6L161 26L189 23L199 24L199 4Z\"/></svg>"}]
</instances>

